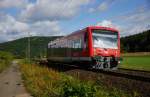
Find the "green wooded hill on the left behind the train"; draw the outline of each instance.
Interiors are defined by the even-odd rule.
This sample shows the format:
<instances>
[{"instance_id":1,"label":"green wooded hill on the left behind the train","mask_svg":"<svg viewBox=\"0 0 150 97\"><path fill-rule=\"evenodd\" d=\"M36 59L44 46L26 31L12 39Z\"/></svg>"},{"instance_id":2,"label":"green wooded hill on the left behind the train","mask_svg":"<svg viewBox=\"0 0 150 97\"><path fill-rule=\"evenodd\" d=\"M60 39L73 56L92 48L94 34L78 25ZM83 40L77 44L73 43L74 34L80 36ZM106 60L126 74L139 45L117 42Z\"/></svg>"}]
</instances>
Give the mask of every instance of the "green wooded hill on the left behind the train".
<instances>
[{"instance_id":1,"label":"green wooded hill on the left behind the train","mask_svg":"<svg viewBox=\"0 0 150 97\"><path fill-rule=\"evenodd\" d=\"M59 37L60 36L30 37L31 57L45 56L48 42ZM0 50L11 52L18 58L25 58L27 56L28 51L28 38L25 37L14 41L0 43Z\"/></svg>"}]
</instances>

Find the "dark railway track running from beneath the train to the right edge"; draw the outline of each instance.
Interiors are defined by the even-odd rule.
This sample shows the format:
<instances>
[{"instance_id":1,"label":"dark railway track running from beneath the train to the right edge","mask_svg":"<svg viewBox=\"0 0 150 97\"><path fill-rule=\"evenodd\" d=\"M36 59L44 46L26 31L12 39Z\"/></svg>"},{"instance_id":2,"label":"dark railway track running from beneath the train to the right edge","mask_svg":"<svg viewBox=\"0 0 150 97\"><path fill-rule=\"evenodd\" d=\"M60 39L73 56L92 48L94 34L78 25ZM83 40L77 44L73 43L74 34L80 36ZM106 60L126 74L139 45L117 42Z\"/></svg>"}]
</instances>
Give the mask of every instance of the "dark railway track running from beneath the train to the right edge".
<instances>
[{"instance_id":1,"label":"dark railway track running from beneath the train to the right edge","mask_svg":"<svg viewBox=\"0 0 150 97\"><path fill-rule=\"evenodd\" d=\"M64 67L67 67L68 70L79 69L80 71L84 71L84 72L88 71L88 72L94 72L94 73L101 73L101 74L107 74L111 76L122 77L122 78L131 79L131 80L150 83L150 72L143 71L143 70L131 70L131 69L119 68L118 70L115 70L115 71L106 71L106 70L85 69L82 67L78 67L74 65L67 65L67 64L63 65L63 67L61 65L61 68L59 68L59 70L64 69Z\"/></svg>"}]
</instances>

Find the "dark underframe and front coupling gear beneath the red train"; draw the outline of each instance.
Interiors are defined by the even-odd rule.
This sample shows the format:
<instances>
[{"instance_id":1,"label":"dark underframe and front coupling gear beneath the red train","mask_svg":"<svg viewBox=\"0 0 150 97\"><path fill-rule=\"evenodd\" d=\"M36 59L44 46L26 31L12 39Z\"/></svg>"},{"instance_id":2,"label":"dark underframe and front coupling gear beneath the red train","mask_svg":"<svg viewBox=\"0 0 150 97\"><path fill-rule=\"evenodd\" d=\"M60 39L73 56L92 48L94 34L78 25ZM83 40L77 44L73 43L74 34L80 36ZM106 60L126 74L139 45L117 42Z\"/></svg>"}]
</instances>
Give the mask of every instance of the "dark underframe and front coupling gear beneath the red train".
<instances>
[{"instance_id":1,"label":"dark underframe and front coupling gear beneath the red train","mask_svg":"<svg viewBox=\"0 0 150 97\"><path fill-rule=\"evenodd\" d=\"M100 70L116 70L120 59L116 57L76 57L76 58L63 58L52 57L48 59L48 62L59 64L73 64L82 68L100 69Z\"/></svg>"}]
</instances>

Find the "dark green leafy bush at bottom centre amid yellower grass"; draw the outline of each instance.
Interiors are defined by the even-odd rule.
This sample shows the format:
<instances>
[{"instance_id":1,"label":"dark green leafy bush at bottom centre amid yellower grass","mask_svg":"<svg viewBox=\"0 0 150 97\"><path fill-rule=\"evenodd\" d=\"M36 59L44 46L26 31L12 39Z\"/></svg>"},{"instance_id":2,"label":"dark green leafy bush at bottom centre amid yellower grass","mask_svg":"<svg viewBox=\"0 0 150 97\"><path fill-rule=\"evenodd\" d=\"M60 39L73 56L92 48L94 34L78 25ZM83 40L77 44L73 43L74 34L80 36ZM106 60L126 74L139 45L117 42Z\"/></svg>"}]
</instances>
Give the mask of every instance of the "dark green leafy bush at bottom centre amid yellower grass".
<instances>
[{"instance_id":1,"label":"dark green leafy bush at bottom centre amid yellower grass","mask_svg":"<svg viewBox=\"0 0 150 97\"><path fill-rule=\"evenodd\" d=\"M83 82L67 80L62 86L61 97L95 97L96 87Z\"/></svg>"}]
</instances>

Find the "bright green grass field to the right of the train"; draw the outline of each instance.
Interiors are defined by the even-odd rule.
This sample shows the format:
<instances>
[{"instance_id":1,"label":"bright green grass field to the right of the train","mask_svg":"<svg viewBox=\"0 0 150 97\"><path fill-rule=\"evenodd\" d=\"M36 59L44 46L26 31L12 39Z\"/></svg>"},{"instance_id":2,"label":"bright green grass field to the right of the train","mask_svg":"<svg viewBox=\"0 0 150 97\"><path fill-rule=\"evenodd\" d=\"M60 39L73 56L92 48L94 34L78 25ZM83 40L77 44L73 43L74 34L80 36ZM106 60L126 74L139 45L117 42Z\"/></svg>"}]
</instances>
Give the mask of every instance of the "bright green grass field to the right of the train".
<instances>
[{"instance_id":1,"label":"bright green grass field to the right of the train","mask_svg":"<svg viewBox=\"0 0 150 97\"><path fill-rule=\"evenodd\" d=\"M124 56L120 67L150 71L150 55Z\"/></svg>"}]
</instances>

